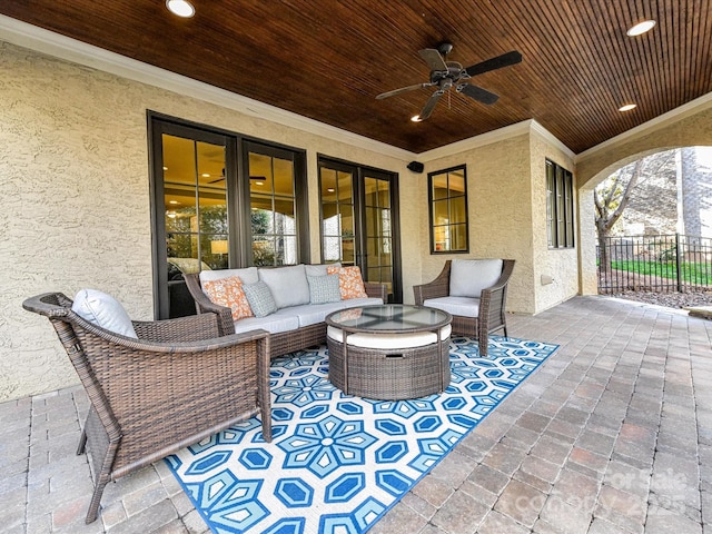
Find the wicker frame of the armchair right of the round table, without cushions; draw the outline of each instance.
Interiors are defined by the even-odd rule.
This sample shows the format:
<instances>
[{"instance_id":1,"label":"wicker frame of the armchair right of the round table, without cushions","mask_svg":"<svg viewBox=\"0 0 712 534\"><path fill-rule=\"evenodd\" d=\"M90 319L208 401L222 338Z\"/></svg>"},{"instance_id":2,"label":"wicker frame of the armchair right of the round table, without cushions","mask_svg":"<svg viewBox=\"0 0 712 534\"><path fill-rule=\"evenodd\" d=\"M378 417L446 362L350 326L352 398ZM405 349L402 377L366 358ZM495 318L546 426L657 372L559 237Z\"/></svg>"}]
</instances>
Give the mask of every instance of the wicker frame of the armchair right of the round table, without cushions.
<instances>
[{"instance_id":1,"label":"wicker frame of the armchair right of the round table, without cushions","mask_svg":"<svg viewBox=\"0 0 712 534\"><path fill-rule=\"evenodd\" d=\"M490 334L500 329L504 330L507 336L506 324L506 296L507 283L514 269L513 259L504 259L502 261L502 275L500 279L492 286L482 290L479 299L472 299L472 314L456 315L451 309L445 309L453 315L453 334L458 336L474 337L478 340L479 354L487 355L487 342ZM428 306L428 299L447 297L449 295L449 269L451 260L445 261L443 271L428 284L413 286L415 294L415 304L418 306ZM439 306L436 306L439 307Z\"/></svg>"}]
</instances>

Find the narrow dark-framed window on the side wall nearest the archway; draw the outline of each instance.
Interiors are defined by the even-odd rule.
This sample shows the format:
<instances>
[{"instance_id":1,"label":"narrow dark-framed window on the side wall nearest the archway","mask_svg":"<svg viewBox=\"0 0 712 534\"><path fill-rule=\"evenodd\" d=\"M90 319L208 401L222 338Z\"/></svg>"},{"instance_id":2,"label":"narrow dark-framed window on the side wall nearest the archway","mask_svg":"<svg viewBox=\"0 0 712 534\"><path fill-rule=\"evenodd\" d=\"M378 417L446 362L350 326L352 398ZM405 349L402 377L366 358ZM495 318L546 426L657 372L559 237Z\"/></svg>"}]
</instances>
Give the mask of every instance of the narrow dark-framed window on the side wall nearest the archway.
<instances>
[{"instance_id":1,"label":"narrow dark-framed window on the side wall nearest the archway","mask_svg":"<svg viewBox=\"0 0 712 534\"><path fill-rule=\"evenodd\" d=\"M546 231L548 248L574 247L573 175L546 160Z\"/></svg>"}]
</instances>

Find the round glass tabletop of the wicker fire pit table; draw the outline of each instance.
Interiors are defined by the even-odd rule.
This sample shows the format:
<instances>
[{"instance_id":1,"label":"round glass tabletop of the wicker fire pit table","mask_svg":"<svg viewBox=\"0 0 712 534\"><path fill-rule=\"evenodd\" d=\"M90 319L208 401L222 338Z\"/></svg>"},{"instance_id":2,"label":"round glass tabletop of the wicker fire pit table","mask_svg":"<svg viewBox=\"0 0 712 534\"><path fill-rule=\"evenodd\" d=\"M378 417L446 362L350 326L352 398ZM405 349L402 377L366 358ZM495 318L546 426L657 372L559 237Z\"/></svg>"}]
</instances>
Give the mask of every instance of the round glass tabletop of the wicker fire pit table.
<instances>
[{"instance_id":1,"label":"round glass tabletop of the wicker fire pit table","mask_svg":"<svg viewBox=\"0 0 712 534\"><path fill-rule=\"evenodd\" d=\"M407 304L360 306L342 309L326 317L327 325L354 332L421 332L445 326L453 320L447 312Z\"/></svg>"}]
</instances>

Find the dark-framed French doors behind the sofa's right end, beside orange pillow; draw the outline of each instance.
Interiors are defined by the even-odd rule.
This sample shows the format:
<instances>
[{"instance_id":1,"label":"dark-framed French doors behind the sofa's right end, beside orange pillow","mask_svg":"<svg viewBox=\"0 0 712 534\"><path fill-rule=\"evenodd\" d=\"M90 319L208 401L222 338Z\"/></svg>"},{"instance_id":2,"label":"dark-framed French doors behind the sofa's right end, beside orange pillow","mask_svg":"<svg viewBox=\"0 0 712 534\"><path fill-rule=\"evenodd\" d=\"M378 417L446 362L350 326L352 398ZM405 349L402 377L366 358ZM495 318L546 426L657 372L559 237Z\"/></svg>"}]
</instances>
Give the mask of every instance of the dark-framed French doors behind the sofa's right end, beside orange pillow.
<instances>
[{"instance_id":1,"label":"dark-framed French doors behind the sofa's right end, beside orange pillow","mask_svg":"<svg viewBox=\"0 0 712 534\"><path fill-rule=\"evenodd\" d=\"M330 159L319 160L322 260L360 267L403 301L397 176Z\"/></svg>"}]
</instances>

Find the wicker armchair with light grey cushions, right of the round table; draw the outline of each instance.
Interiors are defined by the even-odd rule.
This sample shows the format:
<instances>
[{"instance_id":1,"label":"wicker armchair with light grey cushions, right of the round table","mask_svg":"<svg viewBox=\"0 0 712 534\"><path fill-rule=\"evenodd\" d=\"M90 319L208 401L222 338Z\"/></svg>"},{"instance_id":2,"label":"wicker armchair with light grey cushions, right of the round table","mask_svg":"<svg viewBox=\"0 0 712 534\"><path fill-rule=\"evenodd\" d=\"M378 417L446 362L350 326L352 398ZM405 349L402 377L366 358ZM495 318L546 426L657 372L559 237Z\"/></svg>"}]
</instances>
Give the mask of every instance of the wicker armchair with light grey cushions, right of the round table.
<instances>
[{"instance_id":1,"label":"wicker armchair with light grey cushions, right of the round table","mask_svg":"<svg viewBox=\"0 0 712 534\"><path fill-rule=\"evenodd\" d=\"M451 279L456 261L461 280ZM487 355L490 334L507 336L507 284L513 259L447 260L433 281L414 286L415 304L443 309L453 316L453 334L478 339L479 354Z\"/></svg>"}]
</instances>

